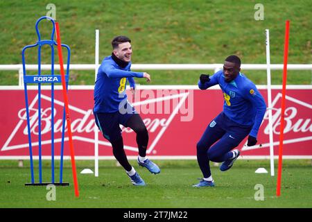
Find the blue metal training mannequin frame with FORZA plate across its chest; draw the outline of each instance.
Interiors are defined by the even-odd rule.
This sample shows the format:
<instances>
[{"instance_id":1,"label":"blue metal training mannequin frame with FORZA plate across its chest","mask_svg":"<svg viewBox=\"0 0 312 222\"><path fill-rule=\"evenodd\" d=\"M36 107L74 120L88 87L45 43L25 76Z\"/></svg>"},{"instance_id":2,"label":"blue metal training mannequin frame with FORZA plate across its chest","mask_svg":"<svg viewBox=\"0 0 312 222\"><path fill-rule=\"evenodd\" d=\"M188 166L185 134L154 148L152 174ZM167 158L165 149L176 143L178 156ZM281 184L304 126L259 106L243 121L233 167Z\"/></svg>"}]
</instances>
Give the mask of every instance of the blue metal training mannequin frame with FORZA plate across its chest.
<instances>
[{"instance_id":1,"label":"blue metal training mannequin frame with FORZA plate across its chest","mask_svg":"<svg viewBox=\"0 0 312 222\"><path fill-rule=\"evenodd\" d=\"M53 28L51 33L51 40L41 40L41 35L39 32L38 24L43 19L47 19L52 22ZM61 76L54 74L54 46L57 46L57 42L54 40L55 33L55 21L51 17L40 17L35 24L35 29L37 32L38 41L35 44L24 46L21 51L21 59L23 63L23 74L24 74L24 94L25 94L25 104L26 104L26 120L27 120L27 130L28 130L28 145L29 145L29 157L31 161L31 183L26 183L25 185L60 185L68 186L68 182L62 182L62 170L63 170L63 154L64 154L64 130L65 130L65 109L63 108L63 119L62 119L62 142L60 151L60 182L55 182L55 166L54 166L54 84L62 83ZM51 74L46 75L41 73L41 48L44 45L51 46ZM37 48L37 75L27 75L26 74L26 60L25 51L33 47ZM62 47L67 49L67 70L65 75L66 88L68 89L69 82L69 63L71 50L66 44L62 44ZM39 182L35 182L34 167L33 167L33 145L31 143L31 124L29 117L28 108L28 94L27 94L27 83L33 83L38 85L38 157L39 157ZM41 85L44 83L51 84L51 182L42 182L42 133L41 133Z\"/></svg>"}]
</instances>

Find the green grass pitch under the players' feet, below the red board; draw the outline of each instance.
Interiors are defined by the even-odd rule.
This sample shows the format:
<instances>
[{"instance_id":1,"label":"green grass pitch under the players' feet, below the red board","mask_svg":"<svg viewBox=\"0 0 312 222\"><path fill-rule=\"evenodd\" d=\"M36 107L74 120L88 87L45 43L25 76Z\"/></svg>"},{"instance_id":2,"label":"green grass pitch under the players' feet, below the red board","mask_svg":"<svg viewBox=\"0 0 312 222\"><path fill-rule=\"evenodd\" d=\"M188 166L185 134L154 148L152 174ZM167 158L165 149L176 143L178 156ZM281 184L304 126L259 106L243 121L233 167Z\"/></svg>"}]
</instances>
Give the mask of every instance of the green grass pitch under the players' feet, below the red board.
<instances>
[{"instance_id":1,"label":"green grass pitch under the players' feet, below the red board","mask_svg":"<svg viewBox=\"0 0 312 222\"><path fill-rule=\"evenodd\" d=\"M269 173L257 174L258 167L270 169L269 160L238 160L232 169L221 172L211 164L216 187L194 188L191 185L201 177L196 160L155 160L162 171L158 175L149 173L130 163L147 183L146 187L135 187L116 161L101 160L99 177L80 174L85 168L93 169L92 161L77 161L80 196L73 191L71 164L64 164L64 182L69 187L56 187L55 200L47 200L50 191L46 187L26 187L31 182L29 161L18 167L16 160L3 160L0 166L0 208L15 207L84 207L84 208L207 208L207 207L312 207L311 160L284 160L281 196L276 196L277 177ZM277 163L275 163L277 167ZM38 162L35 162L35 166ZM58 166L58 163L56 163ZM58 172L58 168L55 169ZM277 173L277 169L275 169ZM38 173L35 169L35 178ZM51 181L49 161L43 162L43 179ZM55 173L58 178L58 173ZM58 180L58 179L56 179ZM57 181L55 181L57 182ZM255 200L263 185L264 200Z\"/></svg>"}]
</instances>

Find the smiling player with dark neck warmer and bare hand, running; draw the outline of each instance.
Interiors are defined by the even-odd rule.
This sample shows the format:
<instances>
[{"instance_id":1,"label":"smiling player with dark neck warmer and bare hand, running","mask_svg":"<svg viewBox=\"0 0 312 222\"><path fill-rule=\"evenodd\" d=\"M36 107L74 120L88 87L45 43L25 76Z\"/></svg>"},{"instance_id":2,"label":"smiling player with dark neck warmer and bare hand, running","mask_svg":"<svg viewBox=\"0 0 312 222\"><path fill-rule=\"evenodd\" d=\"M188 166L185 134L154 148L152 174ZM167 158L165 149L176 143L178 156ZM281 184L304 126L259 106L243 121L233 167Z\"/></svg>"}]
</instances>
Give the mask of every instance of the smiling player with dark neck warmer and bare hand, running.
<instances>
[{"instance_id":1,"label":"smiling player with dark neck warmer and bare hand, running","mask_svg":"<svg viewBox=\"0 0 312 222\"><path fill-rule=\"evenodd\" d=\"M130 83L132 93L135 90L133 77L146 78L150 81L150 75L146 72L134 72L130 70L132 46L131 40L126 36L117 36L112 40L113 52L111 56L104 58L98 69L94 87L94 118L96 125L103 136L112 144L112 151L116 160L125 169L133 185L144 186L135 169L129 164L123 149L123 137L119 124L130 127L137 133L137 146L139 166L146 167L150 173L159 173L160 169L155 163L146 157L148 146L148 130L135 108L130 105L125 94L127 83Z\"/></svg>"}]
</instances>

